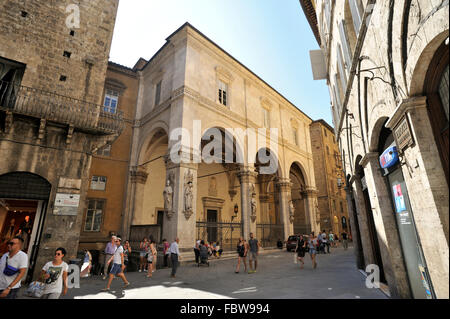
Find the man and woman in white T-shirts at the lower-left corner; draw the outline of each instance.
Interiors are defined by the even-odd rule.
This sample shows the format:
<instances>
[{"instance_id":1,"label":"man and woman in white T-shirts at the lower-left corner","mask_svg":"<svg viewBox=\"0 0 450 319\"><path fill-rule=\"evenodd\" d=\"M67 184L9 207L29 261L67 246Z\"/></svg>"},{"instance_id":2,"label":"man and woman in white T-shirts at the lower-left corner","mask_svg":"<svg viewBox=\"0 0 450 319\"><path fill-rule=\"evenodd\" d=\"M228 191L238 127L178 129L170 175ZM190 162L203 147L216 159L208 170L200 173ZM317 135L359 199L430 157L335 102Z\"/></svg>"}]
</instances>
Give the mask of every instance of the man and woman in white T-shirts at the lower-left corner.
<instances>
[{"instance_id":1,"label":"man and woman in white T-shirts at the lower-left corner","mask_svg":"<svg viewBox=\"0 0 450 319\"><path fill-rule=\"evenodd\" d=\"M16 299L21 281L28 268L28 256L22 251L24 240L13 237L8 243L8 252L0 259L0 299ZM66 250L55 250L52 261L44 265L40 273L43 284L41 299L59 299L67 294L67 274L69 265L63 261Z\"/></svg>"}]
</instances>

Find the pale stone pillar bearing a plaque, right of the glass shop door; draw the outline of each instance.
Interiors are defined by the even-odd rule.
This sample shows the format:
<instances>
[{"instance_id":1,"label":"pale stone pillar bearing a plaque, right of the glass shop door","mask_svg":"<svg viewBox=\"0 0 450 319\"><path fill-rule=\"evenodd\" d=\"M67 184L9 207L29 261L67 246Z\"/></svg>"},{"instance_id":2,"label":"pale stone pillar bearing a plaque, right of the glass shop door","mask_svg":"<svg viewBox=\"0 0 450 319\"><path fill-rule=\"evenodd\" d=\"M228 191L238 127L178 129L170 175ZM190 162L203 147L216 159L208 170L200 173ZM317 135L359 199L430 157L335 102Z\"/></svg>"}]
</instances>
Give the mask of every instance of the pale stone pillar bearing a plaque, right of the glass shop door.
<instances>
[{"instance_id":1,"label":"pale stone pillar bearing a plaque, right of the glass shop door","mask_svg":"<svg viewBox=\"0 0 450 319\"><path fill-rule=\"evenodd\" d=\"M449 193L427 107L424 96L404 100L386 127L394 136L411 128L412 145L399 149L403 177L433 288L438 298L448 298Z\"/></svg>"}]
</instances>

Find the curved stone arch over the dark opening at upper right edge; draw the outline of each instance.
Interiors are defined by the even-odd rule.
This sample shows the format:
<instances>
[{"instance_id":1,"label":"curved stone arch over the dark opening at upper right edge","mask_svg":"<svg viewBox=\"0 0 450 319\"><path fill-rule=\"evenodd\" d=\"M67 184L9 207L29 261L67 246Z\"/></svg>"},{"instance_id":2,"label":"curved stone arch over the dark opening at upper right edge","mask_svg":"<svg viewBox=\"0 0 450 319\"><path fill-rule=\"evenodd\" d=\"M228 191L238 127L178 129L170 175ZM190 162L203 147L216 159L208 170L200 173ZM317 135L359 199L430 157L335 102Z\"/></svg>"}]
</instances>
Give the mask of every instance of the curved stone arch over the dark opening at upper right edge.
<instances>
[{"instance_id":1,"label":"curved stone arch over the dark opening at upper right edge","mask_svg":"<svg viewBox=\"0 0 450 319\"><path fill-rule=\"evenodd\" d=\"M412 43L407 63L407 81L409 96L423 95L425 77L434 53L449 36L448 5L441 8L423 23L417 30L416 40ZM422 39L432 39L427 42Z\"/></svg>"}]
</instances>

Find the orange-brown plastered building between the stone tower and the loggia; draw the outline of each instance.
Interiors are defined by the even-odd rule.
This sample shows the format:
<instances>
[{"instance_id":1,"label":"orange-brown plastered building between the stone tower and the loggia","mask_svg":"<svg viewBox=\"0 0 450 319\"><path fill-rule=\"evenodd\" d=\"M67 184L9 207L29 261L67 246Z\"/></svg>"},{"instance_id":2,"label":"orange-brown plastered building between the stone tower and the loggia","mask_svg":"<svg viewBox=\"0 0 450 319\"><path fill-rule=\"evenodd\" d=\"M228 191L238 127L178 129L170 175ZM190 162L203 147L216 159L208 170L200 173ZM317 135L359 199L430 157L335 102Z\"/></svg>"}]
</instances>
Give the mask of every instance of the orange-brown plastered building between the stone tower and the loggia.
<instances>
[{"instance_id":1,"label":"orange-brown plastered building between the stone tower and the loggia","mask_svg":"<svg viewBox=\"0 0 450 319\"><path fill-rule=\"evenodd\" d=\"M136 68L109 62L103 107L104 111L121 112L124 127L114 143L105 145L92 156L79 250L89 249L94 261L110 235L119 234L122 226L138 83Z\"/></svg>"}]
</instances>

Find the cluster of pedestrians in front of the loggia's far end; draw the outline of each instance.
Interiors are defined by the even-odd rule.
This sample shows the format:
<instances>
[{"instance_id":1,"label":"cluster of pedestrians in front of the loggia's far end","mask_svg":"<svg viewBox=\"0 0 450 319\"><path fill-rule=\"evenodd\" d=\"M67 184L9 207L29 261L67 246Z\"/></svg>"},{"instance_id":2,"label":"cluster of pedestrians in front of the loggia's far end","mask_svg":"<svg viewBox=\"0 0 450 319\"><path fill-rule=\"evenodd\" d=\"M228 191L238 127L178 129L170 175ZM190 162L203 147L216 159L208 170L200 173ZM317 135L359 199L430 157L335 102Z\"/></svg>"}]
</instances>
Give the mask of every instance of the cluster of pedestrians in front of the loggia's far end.
<instances>
[{"instance_id":1,"label":"cluster of pedestrians in front of the loggia's far end","mask_svg":"<svg viewBox=\"0 0 450 319\"><path fill-rule=\"evenodd\" d=\"M315 235L314 232L311 232L309 236L306 235L298 235L297 245L295 248L295 252L297 254L297 259L300 262L300 269L304 268L305 262L303 258L305 258L306 253L309 253L311 257L312 267L313 269L317 268L316 255L318 252L322 253L330 253L330 246L337 247L338 237L333 234L332 231L329 233L322 231L318 236ZM341 234L342 245L344 250L348 249L348 234L344 230ZM325 249L327 252L325 252Z\"/></svg>"}]
</instances>

